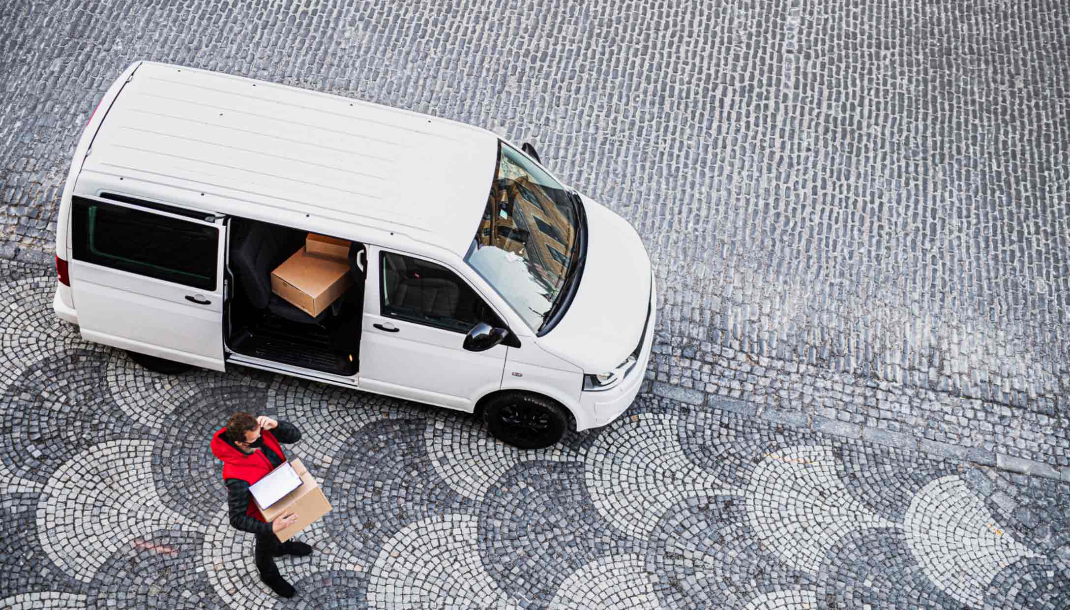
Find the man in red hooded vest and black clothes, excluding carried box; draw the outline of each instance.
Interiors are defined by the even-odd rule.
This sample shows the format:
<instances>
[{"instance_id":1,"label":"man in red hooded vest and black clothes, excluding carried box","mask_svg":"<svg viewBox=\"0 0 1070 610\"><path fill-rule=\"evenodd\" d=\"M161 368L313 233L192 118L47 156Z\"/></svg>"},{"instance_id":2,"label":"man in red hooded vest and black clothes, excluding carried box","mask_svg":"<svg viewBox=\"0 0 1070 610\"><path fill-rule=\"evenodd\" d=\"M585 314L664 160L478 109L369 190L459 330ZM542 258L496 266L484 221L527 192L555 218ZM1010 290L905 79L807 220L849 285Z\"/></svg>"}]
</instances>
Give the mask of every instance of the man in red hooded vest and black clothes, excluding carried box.
<instances>
[{"instance_id":1,"label":"man in red hooded vest and black clothes, excluding carried box","mask_svg":"<svg viewBox=\"0 0 1070 610\"><path fill-rule=\"evenodd\" d=\"M311 554L312 547L296 540L279 543L277 533L292 525L297 515L287 513L272 522L264 521L249 492L249 486L260 481L286 461L279 443L295 443L301 431L292 424L277 422L244 412L234 413L227 426L212 437L212 455L223 461L223 481L227 485L230 524L243 532L256 534L256 563L260 580L282 597L296 592L278 571L275 558Z\"/></svg>"}]
</instances>

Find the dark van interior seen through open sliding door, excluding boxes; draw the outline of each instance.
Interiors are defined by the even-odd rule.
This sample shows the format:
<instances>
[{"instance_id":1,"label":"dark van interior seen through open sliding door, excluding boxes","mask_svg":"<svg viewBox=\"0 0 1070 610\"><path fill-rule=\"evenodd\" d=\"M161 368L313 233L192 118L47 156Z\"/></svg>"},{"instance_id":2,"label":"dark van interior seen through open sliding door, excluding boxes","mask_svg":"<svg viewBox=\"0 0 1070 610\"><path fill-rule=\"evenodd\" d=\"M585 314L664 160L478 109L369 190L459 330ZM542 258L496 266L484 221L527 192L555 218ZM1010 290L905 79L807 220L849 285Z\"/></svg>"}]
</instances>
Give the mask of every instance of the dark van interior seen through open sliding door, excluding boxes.
<instances>
[{"instance_id":1,"label":"dark van interior seen through open sliding door, excluding boxes","mask_svg":"<svg viewBox=\"0 0 1070 610\"><path fill-rule=\"evenodd\" d=\"M352 286L314 317L272 292L271 285L272 271L305 246L306 235L279 225L230 219L227 260L233 280L227 346L240 354L349 377L360 367L365 247L350 245Z\"/></svg>"}]
</instances>

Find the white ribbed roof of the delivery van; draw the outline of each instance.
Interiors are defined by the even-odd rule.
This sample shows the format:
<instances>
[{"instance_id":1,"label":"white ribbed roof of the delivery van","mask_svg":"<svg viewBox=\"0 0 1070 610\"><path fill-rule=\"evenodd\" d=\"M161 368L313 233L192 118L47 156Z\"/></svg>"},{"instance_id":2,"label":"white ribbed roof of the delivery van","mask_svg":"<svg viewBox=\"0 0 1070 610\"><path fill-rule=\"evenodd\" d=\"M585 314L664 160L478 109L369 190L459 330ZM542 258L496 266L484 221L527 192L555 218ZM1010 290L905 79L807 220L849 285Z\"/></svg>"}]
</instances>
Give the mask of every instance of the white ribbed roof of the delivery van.
<instances>
[{"instance_id":1,"label":"white ribbed roof of the delivery van","mask_svg":"<svg viewBox=\"0 0 1070 610\"><path fill-rule=\"evenodd\" d=\"M143 62L108 109L82 172L101 174L95 183L110 176L178 188L221 214L280 224L307 216L463 255L496 142L446 119Z\"/></svg>"}]
</instances>

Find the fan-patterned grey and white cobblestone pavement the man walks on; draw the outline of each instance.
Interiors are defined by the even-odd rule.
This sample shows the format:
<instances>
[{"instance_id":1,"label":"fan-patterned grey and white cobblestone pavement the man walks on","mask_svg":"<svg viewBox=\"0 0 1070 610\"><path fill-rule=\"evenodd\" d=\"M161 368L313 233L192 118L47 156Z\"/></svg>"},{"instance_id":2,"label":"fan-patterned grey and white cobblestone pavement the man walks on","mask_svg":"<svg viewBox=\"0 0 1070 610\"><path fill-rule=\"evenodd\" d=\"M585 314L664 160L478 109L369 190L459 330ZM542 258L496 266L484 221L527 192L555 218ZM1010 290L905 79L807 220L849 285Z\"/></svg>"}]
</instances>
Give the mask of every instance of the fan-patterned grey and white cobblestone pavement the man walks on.
<instances>
[{"instance_id":1,"label":"fan-patterned grey and white cobblestone pavement the man walks on","mask_svg":"<svg viewBox=\"0 0 1070 610\"><path fill-rule=\"evenodd\" d=\"M50 280L0 269L0 310L31 311ZM162 376L54 318L7 330L36 338L0 392L5 608L288 607L207 448L235 409L304 430L290 453L334 504L300 536L317 551L279 560L304 607L1070 604L1053 479L649 393L521 452L460 413L255 370ZM151 405L123 408L131 388Z\"/></svg>"}]
</instances>

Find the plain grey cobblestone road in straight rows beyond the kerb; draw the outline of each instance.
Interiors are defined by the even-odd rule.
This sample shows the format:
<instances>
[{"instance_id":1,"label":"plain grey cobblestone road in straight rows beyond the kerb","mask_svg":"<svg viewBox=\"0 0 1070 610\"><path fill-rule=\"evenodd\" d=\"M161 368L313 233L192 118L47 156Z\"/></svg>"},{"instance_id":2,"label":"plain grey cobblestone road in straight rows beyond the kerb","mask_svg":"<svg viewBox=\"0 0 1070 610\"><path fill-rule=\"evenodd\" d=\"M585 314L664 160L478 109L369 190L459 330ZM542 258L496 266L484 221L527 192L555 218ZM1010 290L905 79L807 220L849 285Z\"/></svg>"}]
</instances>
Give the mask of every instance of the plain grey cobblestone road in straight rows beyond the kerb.
<instances>
[{"instance_id":1,"label":"plain grey cobblestone road in straight rows beyond the kerb","mask_svg":"<svg viewBox=\"0 0 1070 610\"><path fill-rule=\"evenodd\" d=\"M0 17L9 257L49 256L78 134L135 60L338 93L531 140L637 227L661 287L658 395L1070 467L1067 2L14 0Z\"/></svg>"}]
</instances>

